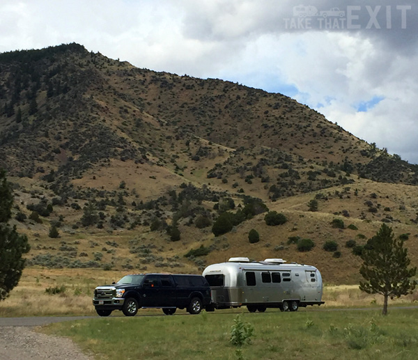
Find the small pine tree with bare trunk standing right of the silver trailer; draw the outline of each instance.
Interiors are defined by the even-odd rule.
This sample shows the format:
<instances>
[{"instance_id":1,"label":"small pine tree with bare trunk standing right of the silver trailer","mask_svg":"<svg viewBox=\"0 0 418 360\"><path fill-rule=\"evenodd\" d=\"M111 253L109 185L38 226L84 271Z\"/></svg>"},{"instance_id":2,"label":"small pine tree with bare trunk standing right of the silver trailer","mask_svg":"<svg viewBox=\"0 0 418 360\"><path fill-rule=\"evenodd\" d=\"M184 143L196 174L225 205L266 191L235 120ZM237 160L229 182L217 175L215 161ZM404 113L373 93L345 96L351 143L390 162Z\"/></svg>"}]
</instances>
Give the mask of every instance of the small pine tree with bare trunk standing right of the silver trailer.
<instances>
[{"instance_id":1,"label":"small pine tree with bare trunk standing right of the silver trailer","mask_svg":"<svg viewBox=\"0 0 418 360\"><path fill-rule=\"evenodd\" d=\"M414 290L415 281L411 278L417 268L408 269L408 250L403 249L403 240L395 239L392 228L386 224L367 242L361 257L360 274L365 281L360 281L360 290L383 295L382 314L387 315L389 297L401 297Z\"/></svg>"}]
</instances>

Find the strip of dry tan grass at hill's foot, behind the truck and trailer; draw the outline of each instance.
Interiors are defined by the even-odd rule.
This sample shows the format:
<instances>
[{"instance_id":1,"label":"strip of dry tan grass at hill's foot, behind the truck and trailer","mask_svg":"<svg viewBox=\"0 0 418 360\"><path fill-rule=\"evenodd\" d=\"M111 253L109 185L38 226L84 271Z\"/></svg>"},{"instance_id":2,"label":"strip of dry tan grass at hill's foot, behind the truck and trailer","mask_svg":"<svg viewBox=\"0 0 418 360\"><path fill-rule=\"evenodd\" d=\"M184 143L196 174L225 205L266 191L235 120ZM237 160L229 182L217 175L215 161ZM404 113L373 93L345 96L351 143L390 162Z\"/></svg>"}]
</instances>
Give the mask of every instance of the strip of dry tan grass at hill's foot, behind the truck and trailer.
<instances>
[{"instance_id":1,"label":"strip of dry tan grass at hill's foot, behind the truck and trailer","mask_svg":"<svg viewBox=\"0 0 418 360\"><path fill-rule=\"evenodd\" d=\"M97 269L24 269L19 285L10 292L8 299L0 302L0 317L95 315L91 303L94 288L116 281L125 274L127 272ZM45 292L47 288L61 285L66 288L62 294ZM358 285L325 286L323 301L325 308L382 305L380 295L361 292ZM412 295L389 300L389 305L416 305L417 302L418 290L415 290ZM145 312L160 313L152 309Z\"/></svg>"}]
</instances>

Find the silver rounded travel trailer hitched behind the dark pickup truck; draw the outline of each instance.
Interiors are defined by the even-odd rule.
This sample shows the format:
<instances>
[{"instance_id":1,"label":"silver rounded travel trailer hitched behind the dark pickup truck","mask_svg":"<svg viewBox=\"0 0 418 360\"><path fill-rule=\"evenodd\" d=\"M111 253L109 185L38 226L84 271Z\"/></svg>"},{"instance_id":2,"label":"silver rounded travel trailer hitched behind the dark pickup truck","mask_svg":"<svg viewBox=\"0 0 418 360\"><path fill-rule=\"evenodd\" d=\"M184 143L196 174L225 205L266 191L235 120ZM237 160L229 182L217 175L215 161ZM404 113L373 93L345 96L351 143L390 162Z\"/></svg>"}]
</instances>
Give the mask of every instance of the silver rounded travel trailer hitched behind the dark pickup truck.
<instances>
[{"instance_id":1,"label":"silver rounded travel trailer hitched behind the dark pickup truck","mask_svg":"<svg viewBox=\"0 0 418 360\"><path fill-rule=\"evenodd\" d=\"M311 265L286 264L282 259L230 258L228 263L209 265L203 276L210 285L214 308L247 306L253 313L266 308L297 311L300 306L324 304L322 277Z\"/></svg>"}]
</instances>

